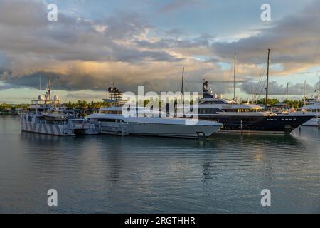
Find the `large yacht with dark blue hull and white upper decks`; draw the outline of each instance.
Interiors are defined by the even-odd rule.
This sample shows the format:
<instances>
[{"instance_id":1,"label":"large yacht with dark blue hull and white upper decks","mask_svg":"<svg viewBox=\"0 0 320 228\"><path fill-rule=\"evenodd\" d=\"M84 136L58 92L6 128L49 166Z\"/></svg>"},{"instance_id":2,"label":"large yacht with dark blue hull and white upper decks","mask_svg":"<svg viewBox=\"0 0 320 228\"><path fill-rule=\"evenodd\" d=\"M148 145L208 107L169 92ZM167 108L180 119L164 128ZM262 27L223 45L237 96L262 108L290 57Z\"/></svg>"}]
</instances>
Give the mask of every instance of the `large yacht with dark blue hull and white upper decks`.
<instances>
[{"instance_id":1,"label":"large yacht with dark blue hull and white upper decks","mask_svg":"<svg viewBox=\"0 0 320 228\"><path fill-rule=\"evenodd\" d=\"M223 124L220 131L242 133L291 133L313 116L289 115L265 111L260 105L239 104L234 100L215 97L203 83L203 98L198 105L201 120L213 120Z\"/></svg>"}]
</instances>

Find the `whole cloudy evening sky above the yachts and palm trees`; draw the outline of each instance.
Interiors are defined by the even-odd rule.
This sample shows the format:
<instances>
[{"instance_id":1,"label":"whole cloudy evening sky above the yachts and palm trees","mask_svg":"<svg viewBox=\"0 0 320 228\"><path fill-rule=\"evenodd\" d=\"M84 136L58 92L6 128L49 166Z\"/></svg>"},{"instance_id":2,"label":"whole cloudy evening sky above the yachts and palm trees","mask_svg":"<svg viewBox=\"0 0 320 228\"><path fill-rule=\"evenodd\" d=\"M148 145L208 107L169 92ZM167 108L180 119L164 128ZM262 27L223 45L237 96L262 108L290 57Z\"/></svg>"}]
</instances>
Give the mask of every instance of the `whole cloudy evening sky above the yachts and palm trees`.
<instances>
[{"instance_id":1,"label":"whole cloudy evening sky above the yachts and palm trees","mask_svg":"<svg viewBox=\"0 0 320 228\"><path fill-rule=\"evenodd\" d=\"M271 21L262 21L262 4ZM48 21L48 4L58 21ZM320 86L320 0L0 0L0 103L29 103L46 88L63 102L123 92L201 91L244 100L310 97ZM262 76L262 77L261 77ZM262 78L262 83L260 79ZM40 83L41 81L41 83ZM41 91L40 91L41 89Z\"/></svg>"}]
</instances>

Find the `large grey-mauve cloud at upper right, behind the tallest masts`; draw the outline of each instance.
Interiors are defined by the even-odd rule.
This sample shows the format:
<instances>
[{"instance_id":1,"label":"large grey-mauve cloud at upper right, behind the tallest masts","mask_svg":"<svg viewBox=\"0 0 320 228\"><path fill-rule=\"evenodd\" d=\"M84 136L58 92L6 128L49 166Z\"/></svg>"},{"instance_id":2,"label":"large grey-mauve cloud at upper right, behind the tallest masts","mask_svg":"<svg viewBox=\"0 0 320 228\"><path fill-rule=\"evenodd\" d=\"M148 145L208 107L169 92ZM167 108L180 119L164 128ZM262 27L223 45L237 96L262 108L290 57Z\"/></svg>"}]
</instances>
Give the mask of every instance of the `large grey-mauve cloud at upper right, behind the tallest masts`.
<instances>
[{"instance_id":1,"label":"large grey-mauve cloud at upper right, behind the tallest masts","mask_svg":"<svg viewBox=\"0 0 320 228\"><path fill-rule=\"evenodd\" d=\"M266 63L267 48L272 48L272 63L282 64L277 75L289 75L317 66L316 54L320 42L320 4L314 1L302 11L279 21L272 21L270 28L260 30L255 36L232 43L214 43L213 53L230 59L238 53L239 63ZM319 51L320 52L320 51ZM316 54L316 55L315 55Z\"/></svg>"}]
</instances>

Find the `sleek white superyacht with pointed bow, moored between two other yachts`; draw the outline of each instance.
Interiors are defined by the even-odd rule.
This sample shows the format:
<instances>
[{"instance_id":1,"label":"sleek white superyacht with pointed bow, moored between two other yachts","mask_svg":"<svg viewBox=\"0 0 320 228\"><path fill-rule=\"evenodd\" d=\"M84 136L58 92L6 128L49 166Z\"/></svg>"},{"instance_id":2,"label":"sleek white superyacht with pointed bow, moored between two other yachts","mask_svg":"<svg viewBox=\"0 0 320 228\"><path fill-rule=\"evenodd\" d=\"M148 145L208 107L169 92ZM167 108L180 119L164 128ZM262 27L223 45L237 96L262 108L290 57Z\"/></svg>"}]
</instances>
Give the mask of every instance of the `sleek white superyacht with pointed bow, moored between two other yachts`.
<instances>
[{"instance_id":1,"label":"sleek white superyacht with pointed bow, moored between two other yachts","mask_svg":"<svg viewBox=\"0 0 320 228\"><path fill-rule=\"evenodd\" d=\"M90 123L93 123L100 133L206 138L223 127L221 123L214 121L160 117L163 116L161 113L159 115L159 112L147 111L144 107L136 108L136 116L125 117L122 113L123 106L119 105L123 102L114 97L114 93L119 94L119 90L110 88L110 93L111 99L105 101L114 101L114 105L109 108L100 108L99 113L87 116Z\"/></svg>"}]
</instances>

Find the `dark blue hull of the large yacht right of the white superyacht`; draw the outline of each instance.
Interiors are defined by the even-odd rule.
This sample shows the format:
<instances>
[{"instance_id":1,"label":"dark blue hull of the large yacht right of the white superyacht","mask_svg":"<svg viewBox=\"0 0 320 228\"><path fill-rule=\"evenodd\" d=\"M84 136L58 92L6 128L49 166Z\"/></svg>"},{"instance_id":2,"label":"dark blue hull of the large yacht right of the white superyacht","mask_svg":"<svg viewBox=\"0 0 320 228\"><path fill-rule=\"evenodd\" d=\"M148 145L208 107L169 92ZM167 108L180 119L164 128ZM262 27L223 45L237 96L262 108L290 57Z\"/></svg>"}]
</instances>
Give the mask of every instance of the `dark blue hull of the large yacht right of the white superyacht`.
<instances>
[{"instance_id":1,"label":"dark blue hull of the large yacht right of the white superyacht","mask_svg":"<svg viewBox=\"0 0 320 228\"><path fill-rule=\"evenodd\" d=\"M218 121L223 131L250 133L291 133L313 116L275 115L275 116L236 116L236 115L199 115L201 120Z\"/></svg>"}]
</instances>

